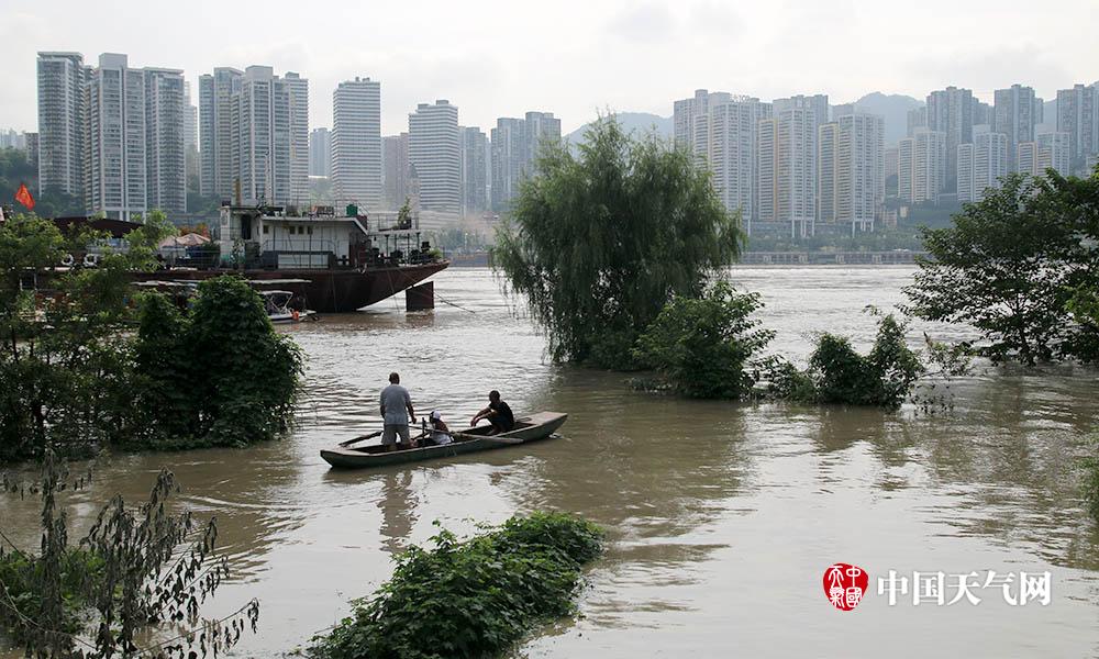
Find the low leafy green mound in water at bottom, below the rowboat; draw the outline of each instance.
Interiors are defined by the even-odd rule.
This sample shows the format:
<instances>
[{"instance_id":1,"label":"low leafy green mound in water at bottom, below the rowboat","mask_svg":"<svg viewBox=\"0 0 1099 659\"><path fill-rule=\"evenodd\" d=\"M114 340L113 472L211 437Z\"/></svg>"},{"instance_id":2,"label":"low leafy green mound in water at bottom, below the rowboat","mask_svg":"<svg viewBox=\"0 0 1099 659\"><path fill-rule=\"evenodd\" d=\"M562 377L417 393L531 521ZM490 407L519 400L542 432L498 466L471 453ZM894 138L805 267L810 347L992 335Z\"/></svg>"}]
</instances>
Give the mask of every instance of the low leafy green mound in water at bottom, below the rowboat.
<instances>
[{"instance_id":1,"label":"low leafy green mound in water at bottom, below the rowboat","mask_svg":"<svg viewBox=\"0 0 1099 659\"><path fill-rule=\"evenodd\" d=\"M398 557L392 579L326 637L325 659L495 656L540 622L573 613L580 568L602 532L563 513L512 517L464 543L446 530L431 550Z\"/></svg>"}]
</instances>

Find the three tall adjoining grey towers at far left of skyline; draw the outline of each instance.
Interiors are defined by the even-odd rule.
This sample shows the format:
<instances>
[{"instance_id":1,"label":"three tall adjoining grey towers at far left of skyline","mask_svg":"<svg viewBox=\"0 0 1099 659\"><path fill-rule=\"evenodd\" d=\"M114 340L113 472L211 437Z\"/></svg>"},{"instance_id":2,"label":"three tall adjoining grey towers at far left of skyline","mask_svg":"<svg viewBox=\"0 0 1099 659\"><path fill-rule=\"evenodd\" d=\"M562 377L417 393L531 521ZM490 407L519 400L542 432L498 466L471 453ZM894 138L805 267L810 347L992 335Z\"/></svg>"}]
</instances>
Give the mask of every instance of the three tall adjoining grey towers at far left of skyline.
<instances>
[{"instance_id":1,"label":"three tall adjoining grey towers at far left of skyline","mask_svg":"<svg viewBox=\"0 0 1099 659\"><path fill-rule=\"evenodd\" d=\"M125 55L88 66L79 53L38 53L38 187L130 219L187 209L187 86L182 71L131 68Z\"/></svg>"}]
</instances>

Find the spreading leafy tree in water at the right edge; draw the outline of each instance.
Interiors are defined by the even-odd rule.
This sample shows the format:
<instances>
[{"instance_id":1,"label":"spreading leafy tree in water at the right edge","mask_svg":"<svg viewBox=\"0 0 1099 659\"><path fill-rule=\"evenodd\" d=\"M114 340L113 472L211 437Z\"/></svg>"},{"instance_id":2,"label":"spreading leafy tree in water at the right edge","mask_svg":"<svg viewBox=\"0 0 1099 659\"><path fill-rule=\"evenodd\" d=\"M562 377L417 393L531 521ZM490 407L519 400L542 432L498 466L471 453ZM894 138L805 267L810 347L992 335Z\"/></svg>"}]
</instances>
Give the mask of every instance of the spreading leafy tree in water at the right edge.
<instances>
[{"instance_id":1,"label":"spreading leafy tree in water at the right edge","mask_svg":"<svg viewBox=\"0 0 1099 659\"><path fill-rule=\"evenodd\" d=\"M1012 175L966 204L953 226L924 228L931 258L904 289L907 310L973 325L990 342L981 351L993 361L1034 365L1063 355L1076 331L1066 303L1075 286L1096 277L1081 250L1087 215L1072 194L1079 185Z\"/></svg>"}]
</instances>

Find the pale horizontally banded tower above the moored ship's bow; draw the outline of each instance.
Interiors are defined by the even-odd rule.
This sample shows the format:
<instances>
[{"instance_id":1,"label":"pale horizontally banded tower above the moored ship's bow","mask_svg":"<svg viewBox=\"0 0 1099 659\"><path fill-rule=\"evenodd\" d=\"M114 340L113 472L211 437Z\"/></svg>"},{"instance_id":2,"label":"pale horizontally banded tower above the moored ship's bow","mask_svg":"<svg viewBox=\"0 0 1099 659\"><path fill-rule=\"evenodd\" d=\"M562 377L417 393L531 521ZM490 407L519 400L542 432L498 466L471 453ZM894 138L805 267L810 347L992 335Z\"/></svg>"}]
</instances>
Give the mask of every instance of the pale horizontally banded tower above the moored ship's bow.
<instances>
[{"instance_id":1,"label":"pale horizontally banded tower above the moored ship's bow","mask_svg":"<svg viewBox=\"0 0 1099 659\"><path fill-rule=\"evenodd\" d=\"M447 100L420 103L409 114L409 161L420 181L420 208L457 213L462 208L458 108Z\"/></svg>"}]
</instances>

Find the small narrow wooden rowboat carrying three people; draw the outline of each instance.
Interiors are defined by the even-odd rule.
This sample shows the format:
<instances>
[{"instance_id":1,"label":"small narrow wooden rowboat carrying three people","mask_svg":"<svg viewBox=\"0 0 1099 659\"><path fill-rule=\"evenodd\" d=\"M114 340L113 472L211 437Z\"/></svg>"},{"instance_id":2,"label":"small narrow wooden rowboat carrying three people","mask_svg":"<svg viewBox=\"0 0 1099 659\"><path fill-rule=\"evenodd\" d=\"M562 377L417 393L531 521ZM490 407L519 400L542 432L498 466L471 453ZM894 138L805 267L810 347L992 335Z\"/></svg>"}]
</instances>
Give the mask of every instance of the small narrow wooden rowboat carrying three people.
<instances>
[{"instance_id":1,"label":"small narrow wooden rowboat carrying three people","mask_svg":"<svg viewBox=\"0 0 1099 659\"><path fill-rule=\"evenodd\" d=\"M400 465L403 462L419 462L421 460L432 460L435 458L448 458L478 450L490 450L503 448L504 446L515 446L518 444L530 444L551 436L568 418L568 414L560 412L539 412L530 416L515 418L515 428L510 433L499 435L487 435L492 426L478 426L451 433L454 442L442 446L424 446L422 448L409 448L404 450L387 451L385 446L364 446L353 448L351 445L362 439L367 439L374 435L364 435L340 446L321 450L321 457L338 469L362 469L365 467L385 467L387 465Z\"/></svg>"}]
</instances>

